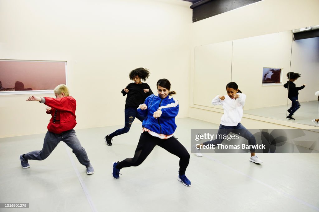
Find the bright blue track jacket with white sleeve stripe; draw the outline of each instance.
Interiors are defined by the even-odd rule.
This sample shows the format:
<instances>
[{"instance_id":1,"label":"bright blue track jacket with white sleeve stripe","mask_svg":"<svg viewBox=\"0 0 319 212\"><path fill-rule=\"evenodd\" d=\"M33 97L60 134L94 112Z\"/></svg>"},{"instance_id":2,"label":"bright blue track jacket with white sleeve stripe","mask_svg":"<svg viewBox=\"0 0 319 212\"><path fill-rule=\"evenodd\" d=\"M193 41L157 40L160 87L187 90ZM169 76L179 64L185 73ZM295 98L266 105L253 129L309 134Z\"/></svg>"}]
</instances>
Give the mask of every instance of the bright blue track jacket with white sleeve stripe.
<instances>
[{"instance_id":1,"label":"bright blue track jacket with white sleeve stripe","mask_svg":"<svg viewBox=\"0 0 319 212\"><path fill-rule=\"evenodd\" d=\"M178 114L178 101L172 96L162 99L154 94L148 96L144 102L147 105L146 110L137 109L142 116L147 116L142 126L159 134L171 135L175 132L175 116ZM162 115L155 119L153 113L160 109Z\"/></svg>"}]
</instances>

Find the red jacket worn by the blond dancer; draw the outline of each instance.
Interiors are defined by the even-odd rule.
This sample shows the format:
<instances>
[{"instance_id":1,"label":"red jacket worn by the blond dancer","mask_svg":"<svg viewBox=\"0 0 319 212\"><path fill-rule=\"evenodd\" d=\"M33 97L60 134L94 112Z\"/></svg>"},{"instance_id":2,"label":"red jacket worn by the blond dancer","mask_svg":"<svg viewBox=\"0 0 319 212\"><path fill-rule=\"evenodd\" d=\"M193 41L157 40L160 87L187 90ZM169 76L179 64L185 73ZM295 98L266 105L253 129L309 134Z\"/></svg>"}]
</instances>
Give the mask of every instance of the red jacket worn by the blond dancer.
<instances>
[{"instance_id":1,"label":"red jacket worn by the blond dancer","mask_svg":"<svg viewBox=\"0 0 319 212\"><path fill-rule=\"evenodd\" d=\"M73 97L65 96L59 99L44 97L44 99L44 104L52 108L48 113L52 116L48 124L48 131L59 134L75 127L77 124L75 120L77 102ZM53 117L56 110L56 121L53 123Z\"/></svg>"}]
</instances>

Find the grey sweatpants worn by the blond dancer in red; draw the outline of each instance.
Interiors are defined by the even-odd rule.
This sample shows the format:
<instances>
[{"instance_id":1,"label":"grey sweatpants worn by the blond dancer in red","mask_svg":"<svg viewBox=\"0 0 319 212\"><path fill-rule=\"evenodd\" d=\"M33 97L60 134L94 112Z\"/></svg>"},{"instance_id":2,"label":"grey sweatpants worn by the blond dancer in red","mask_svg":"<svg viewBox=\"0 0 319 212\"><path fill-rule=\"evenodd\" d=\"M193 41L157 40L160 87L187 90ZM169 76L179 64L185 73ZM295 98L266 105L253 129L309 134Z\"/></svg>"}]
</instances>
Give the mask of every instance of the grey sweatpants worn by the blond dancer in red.
<instances>
[{"instance_id":1,"label":"grey sweatpants worn by the blond dancer in red","mask_svg":"<svg viewBox=\"0 0 319 212\"><path fill-rule=\"evenodd\" d=\"M78 161L82 165L87 166L90 164L90 160L87 158L86 151L81 146L80 141L78 140L78 137L76 136L73 129L60 134L48 131L44 137L42 150L29 152L24 155L24 158L27 160L42 161L51 154L51 152L56 148L60 141L66 143L66 145L68 145L73 150L72 152L76 155Z\"/></svg>"}]
</instances>

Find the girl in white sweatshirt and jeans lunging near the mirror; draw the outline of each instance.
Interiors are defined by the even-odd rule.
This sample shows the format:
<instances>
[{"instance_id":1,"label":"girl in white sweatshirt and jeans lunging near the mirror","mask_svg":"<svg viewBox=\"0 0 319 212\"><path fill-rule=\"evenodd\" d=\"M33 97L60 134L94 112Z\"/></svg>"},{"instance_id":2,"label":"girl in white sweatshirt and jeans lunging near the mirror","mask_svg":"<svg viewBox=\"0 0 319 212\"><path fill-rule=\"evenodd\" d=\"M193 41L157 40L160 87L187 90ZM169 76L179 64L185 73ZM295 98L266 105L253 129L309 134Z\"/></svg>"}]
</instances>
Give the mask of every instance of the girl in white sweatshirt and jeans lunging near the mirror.
<instances>
[{"instance_id":1,"label":"girl in white sweatshirt and jeans lunging near the mirror","mask_svg":"<svg viewBox=\"0 0 319 212\"><path fill-rule=\"evenodd\" d=\"M238 85L235 82L230 82L226 85L226 96L216 96L213 100L211 100L211 104L213 105L222 105L224 108L224 115L221 117L218 135L227 135L232 132L240 135L241 137L248 140L249 145L256 145L256 139L253 134L251 134L244 126L241 125L240 121L243 114L243 107L245 105L246 95L241 93L238 89ZM220 136L224 137L224 136ZM203 155L200 153L200 148L203 145L212 144L217 146L217 144L221 144L224 139L215 139L211 141L206 141L199 146L193 146L195 150L195 155L198 157L202 157ZM251 157L249 161L254 163L262 163L256 155L255 148L250 148Z\"/></svg>"}]
</instances>

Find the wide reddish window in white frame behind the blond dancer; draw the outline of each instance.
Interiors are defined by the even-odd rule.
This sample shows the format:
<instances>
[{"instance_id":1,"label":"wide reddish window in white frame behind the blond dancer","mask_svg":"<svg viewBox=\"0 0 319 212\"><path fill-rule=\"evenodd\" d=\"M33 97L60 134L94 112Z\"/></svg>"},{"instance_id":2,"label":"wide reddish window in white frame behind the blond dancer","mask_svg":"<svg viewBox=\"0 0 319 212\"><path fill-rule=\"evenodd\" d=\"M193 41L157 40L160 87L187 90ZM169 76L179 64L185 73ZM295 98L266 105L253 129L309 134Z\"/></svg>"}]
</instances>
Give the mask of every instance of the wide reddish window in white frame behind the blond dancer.
<instances>
[{"instance_id":1,"label":"wide reddish window in white frame behind the blond dancer","mask_svg":"<svg viewBox=\"0 0 319 212\"><path fill-rule=\"evenodd\" d=\"M0 59L0 95L52 93L66 84L66 61Z\"/></svg>"}]
</instances>

